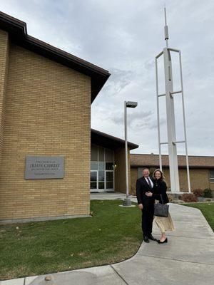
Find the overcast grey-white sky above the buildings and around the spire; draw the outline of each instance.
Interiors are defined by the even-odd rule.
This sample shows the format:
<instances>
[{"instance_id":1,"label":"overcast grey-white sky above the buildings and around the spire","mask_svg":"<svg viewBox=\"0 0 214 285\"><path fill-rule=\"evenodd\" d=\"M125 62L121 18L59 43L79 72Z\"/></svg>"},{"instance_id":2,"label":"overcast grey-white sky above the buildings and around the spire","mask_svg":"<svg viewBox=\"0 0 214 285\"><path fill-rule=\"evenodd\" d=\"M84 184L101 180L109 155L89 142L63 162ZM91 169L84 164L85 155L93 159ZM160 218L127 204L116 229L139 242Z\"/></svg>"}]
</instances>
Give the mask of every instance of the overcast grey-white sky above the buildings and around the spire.
<instances>
[{"instance_id":1,"label":"overcast grey-white sky above the buildings and around the spire","mask_svg":"<svg viewBox=\"0 0 214 285\"><path fill-rule=\"evenodd\" d=\"M138 101L128 109L128 140L139 145L133 152L158 153L154 58L165 47L164 4L169 46L182 55L188 153L214 155L213 0L0 0L0 10L25 21L29 35L108 70L111 77L91 106L91 127L124 138L123 102ZM161 80L160 86L164 92ZM167 140L164 100L162 141ZM183 140L181 110L176 95L178 140ZM178 154L183 153L180 145Z\"/></svg>"}]
</instances>

